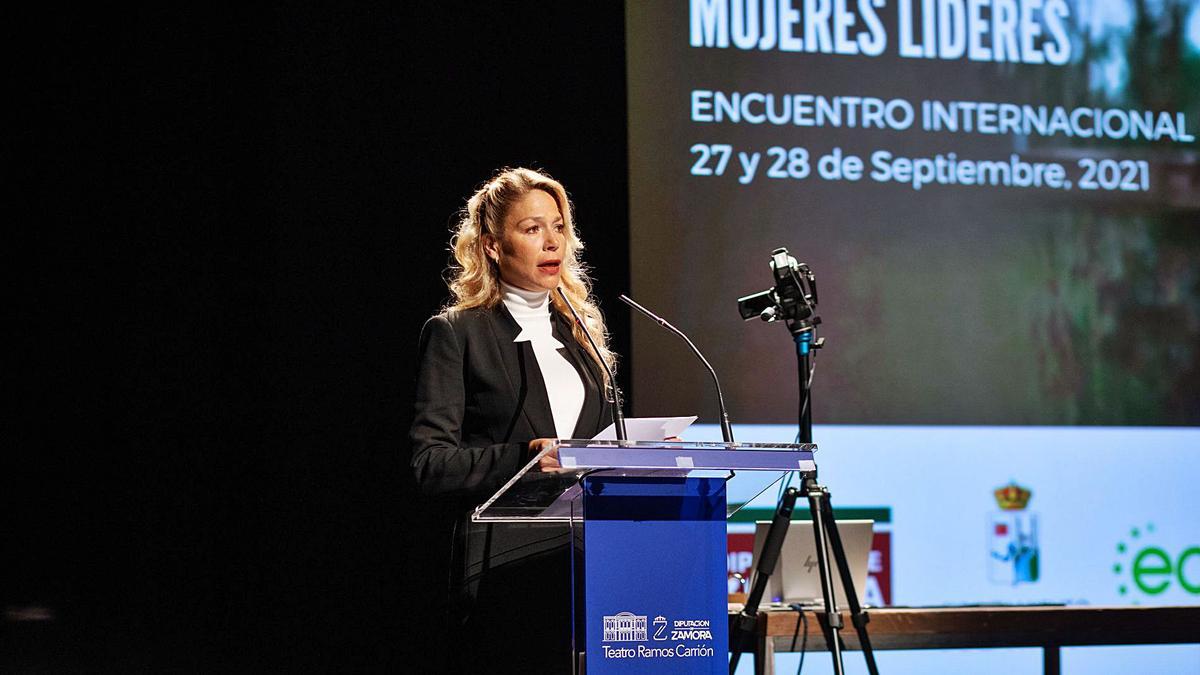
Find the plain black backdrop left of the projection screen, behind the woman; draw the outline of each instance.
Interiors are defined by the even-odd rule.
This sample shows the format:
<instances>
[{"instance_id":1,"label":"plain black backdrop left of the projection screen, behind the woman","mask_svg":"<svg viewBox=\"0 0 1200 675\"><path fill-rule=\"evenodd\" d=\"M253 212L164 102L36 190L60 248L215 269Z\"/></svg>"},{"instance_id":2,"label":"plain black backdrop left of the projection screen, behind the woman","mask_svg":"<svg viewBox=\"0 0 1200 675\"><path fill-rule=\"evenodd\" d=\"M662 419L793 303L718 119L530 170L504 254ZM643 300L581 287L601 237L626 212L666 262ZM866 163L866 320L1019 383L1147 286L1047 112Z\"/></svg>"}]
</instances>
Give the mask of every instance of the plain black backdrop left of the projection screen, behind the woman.
<instances>
[{"instance_id":1,"label":"plain black backdrop left of the projection screen, behind the woman","mask_svg":"<svg viewBox=\"0 0 1200 675\"><path fill-rule=\"evenodd\" d=\"M0 670L421 671L413 359L496 168L568 186L629 352L622 4L4 23Z\"/></svg>"}]
</instances>

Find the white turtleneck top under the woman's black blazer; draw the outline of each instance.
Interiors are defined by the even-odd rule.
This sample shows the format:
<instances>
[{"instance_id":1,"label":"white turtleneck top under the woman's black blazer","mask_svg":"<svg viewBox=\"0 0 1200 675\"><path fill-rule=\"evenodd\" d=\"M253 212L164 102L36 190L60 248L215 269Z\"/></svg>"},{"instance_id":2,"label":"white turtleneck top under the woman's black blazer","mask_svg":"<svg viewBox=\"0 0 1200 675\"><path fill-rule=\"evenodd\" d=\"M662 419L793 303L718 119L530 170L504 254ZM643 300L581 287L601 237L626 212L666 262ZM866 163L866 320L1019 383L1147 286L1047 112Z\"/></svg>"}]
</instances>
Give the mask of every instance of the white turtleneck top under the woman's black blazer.
<instances>
[{"instance_id":1,"label":"white turtleneck top under the woman's black blazer","mask_svg":"<svg viewBox=\"0 0 1200 675\"><path fill-rule=\"evenodd\" d=\"M564 345L554 339L550 292L526 291L502 281L500 294L504 306L521 325L514 342L529 342L538 359L554 416L554 431L559 438L570 438L583 410L583 381L566 354L558 351Z\"/></svg>"}]
</instances>

